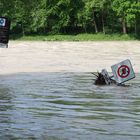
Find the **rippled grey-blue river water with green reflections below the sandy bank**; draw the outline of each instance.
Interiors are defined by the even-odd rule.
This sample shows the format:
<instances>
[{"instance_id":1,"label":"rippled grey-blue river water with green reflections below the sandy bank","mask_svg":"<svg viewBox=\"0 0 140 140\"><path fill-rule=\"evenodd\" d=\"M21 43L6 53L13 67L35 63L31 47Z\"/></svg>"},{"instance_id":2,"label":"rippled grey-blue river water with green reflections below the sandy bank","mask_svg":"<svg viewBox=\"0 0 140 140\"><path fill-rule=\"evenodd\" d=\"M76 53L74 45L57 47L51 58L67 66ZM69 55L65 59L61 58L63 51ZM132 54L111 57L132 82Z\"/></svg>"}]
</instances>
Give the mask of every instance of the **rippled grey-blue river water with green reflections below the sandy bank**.
<instances>
[{"instance_id":1,"label":"rippled grey-blue river water with green reflections below the sandy bank","mask_svg":"<svg viewBox=\"0 0 140 140\"><path fill-rule=\"evenodd\" d=\"M139 139L136 76L125 87L95 86L90 73L0 76L0 139Z\"/></svg>"}]
</instances>

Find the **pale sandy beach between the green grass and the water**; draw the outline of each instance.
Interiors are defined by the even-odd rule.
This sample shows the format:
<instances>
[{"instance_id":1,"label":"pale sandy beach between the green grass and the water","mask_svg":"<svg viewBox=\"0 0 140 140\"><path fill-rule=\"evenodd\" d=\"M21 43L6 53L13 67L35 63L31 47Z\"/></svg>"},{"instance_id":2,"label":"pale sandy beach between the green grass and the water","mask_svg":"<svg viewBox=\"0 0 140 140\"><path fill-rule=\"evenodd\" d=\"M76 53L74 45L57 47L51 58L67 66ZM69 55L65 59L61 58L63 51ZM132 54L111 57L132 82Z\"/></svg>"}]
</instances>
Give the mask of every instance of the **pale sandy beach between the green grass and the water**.
<instances>
[{"instance_id":1,"label":"pale sandy beach between the green grass and the water","mask_svg":"<svg viewBox=\"0 0 140 140\"><path fill-rule=\"evenodd\" d=\"M139 41L10 41L0 48L0 74L22 72L96 72L130 59L140 72Z\"/></svg>"}]
</instances>

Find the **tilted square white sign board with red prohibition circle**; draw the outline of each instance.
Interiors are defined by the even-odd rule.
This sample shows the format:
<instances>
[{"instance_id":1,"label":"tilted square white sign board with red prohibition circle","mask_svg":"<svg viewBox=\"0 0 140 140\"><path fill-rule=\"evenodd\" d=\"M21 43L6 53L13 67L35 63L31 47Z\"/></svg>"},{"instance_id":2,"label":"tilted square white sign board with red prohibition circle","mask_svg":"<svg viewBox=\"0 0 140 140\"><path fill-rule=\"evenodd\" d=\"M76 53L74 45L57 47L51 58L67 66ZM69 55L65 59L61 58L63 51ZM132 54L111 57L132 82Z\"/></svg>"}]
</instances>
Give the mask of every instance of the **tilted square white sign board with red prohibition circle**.
<instances>
[{"instance_id":1,"label":"tilted square white sign board with red prohibition circle","mask_svg":"<svg viewBox=\"0 0 140 140\"><path fill-rule=\"evenodd\" d=\"M129 59L111 66L114 79L121 84L135 78L135 73Z\"/></svg>"}]
</instances>

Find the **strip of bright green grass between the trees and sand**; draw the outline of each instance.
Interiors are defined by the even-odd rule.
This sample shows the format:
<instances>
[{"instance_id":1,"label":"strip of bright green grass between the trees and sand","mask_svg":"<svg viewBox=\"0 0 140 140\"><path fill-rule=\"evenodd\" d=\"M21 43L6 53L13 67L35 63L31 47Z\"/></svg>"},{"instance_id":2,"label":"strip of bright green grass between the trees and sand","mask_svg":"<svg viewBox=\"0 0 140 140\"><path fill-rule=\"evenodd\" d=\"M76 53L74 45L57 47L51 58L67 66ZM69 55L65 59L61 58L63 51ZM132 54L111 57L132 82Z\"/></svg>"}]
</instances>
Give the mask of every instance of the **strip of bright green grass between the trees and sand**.
<instances>
[{"instance_id":1,"label":"strip of bright green grass between the trees and sand","mask_svg":"<svg viewBox=\"0 0 140 140\"><path fill-rule=\"evenodd\" d=\"M11 40L31 40L31 41L127 41L139 40L135 35L123 34L78 34L78 35L30 35L11 36Z\"/></svg>"}]
</instances>

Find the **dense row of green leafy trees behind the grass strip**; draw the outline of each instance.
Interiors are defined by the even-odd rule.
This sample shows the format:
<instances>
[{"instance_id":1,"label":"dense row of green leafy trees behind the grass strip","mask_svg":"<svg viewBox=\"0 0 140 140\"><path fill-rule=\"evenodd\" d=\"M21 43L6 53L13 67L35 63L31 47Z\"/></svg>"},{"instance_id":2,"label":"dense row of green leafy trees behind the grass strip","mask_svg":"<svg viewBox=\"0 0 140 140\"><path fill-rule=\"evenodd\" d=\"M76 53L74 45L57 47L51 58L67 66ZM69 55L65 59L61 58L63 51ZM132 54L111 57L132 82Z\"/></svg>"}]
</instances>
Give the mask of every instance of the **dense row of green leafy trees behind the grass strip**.
<instances>
[{"instance_id":1,"label":"dense row of green leafy trees behind the grass strip","mask_svg":"<svg viewBox=\"0 0 140 140\"><path fill-rule=\"evenodd\" d=\"M139 0L0 0L13 33L140 33Z\"/></svg>"}]
</instances>

